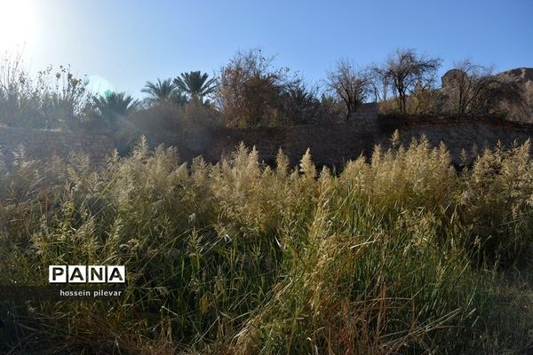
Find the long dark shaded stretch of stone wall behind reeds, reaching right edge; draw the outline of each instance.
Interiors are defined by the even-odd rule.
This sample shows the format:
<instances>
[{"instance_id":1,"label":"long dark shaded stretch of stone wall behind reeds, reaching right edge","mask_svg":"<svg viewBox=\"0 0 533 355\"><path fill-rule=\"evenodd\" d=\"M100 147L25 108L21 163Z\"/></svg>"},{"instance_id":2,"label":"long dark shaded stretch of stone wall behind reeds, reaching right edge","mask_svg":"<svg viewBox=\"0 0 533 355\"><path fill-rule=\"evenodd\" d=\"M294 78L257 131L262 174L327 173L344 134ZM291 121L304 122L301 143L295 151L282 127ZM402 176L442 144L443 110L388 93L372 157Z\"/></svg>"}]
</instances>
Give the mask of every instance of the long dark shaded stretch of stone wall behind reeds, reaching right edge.
<instances>
[{"instance_id":1,"label":"long dark shaded stretch of stone wall behind reeds, reaching right edge","mask_svg":"<svg viewBox=\"0 0 533 355\"><path fill-rule=\"evenodd\" d=\"M330 125L309 125L285 128L255 129L196 129L184 136L168 135L156 144L176 146L181 158L190 161L203 155L209 162L228 156L242 141L246 146L256 146L262 161L272 164L281 148L296 165L307 147L311 149L318 165L342 169L347 160L363 154L369 157L375 145L391 146L394 130L399 130L402 144L409 145L412 138L425 136L432 146L441 141L448 146L452 161L461 163L461 151L465 149L470 160L473 146L478 151L493 147L500 141L511 146L514 141L523 143L533 138L533 125L495 119L432 118L418 120L376 119L373 121L346 122ZM156 145L155 144L155 145Z\"/></svg>"}]
</instances>

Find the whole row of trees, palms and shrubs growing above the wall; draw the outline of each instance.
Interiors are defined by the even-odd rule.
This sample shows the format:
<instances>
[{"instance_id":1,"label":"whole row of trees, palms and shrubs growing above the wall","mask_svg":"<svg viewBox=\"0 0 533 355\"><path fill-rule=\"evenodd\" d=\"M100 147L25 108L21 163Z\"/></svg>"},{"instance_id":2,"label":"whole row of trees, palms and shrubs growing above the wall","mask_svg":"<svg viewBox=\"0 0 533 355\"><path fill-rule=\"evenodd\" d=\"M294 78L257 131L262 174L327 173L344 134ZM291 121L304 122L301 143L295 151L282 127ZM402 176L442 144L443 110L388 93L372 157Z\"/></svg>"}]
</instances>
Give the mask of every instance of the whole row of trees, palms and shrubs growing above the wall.
<instances>
[{"instance_id":1,"label":"whole row of trees, palms and shrubs growing above the wall","mask_svg":"<svg viewBox=\"0 0 533 355\"><path fill-rule=\"evenodd\" d=\"M341 59L321 84L278 66L259 49L238 51L212 77L191 71L148 81L139 101L126 92L90 92L88 79L76 77L70 67L47 67L33 78L20 54L6 53L0 59L0 126L111 132L134 127L151 136L183 132L190 125L335 124L351 119L369 101L378 102L381 114L531 121L532 82L520 76L522 68L494 75L489 67L464 60L442 77L440 87L441 63L413 49L399 49L383 63L364 67Z\"/></svg>"}]
</instances>

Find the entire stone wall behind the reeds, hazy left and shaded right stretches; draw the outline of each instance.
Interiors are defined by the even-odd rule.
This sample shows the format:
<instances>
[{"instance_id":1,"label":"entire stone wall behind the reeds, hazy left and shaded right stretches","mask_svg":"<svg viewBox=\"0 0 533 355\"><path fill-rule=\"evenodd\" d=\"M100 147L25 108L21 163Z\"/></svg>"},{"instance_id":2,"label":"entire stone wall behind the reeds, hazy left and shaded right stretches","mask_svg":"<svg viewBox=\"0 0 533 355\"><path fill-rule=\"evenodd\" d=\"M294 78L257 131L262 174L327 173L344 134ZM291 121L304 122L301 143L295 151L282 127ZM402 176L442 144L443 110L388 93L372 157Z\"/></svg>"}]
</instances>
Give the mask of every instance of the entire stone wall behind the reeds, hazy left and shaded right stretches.
<instances>
[{"instance_id":1,"label":"entire stone wall behind the reeds, hazy left and shaded right stretches","mask_svg":"<svg viewBox=\"0 0 533 355\"><path fill-rule=\"evenodd\" d=\"M182 134L166 133L147 139L151 146L176 146L181 160L186 162L198 155L203 155L208 162L218 162L221 156L230 156L243 142L249 147L256 146L260 160L267 164L274 164L276 154L282 149L294 166L310 148L317 165L342 170L347 160L361 155L369 157L375 145L391 146L394 130L399 130L404 145L409 145L412 138L423 136L432 146L442 141L457 166L461 163L462 149L472 159L474 145L481 151L483 147L496 146L498 141L511 146L514 141L521 144L533 138L533 125L525 123L448 117L376 118L341 124L253 129L196 128ZM67 157L72 152L84 152L95 166L101 166L115 147L113 139L105 134L0 128L0 151L8 162L12 161L12 151L20 144L32 158Z\"/></svg>"}]
</instances>

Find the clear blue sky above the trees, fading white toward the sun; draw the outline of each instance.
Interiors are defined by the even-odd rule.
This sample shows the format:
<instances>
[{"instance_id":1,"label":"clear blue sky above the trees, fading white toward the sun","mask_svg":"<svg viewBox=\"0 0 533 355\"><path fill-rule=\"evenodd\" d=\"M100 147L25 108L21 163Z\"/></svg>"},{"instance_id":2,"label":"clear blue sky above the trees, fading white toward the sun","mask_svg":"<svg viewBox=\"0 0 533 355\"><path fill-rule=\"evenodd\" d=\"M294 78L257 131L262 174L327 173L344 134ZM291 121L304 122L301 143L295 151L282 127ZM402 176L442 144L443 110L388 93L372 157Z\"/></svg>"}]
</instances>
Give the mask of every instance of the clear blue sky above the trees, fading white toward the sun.
<instances>
[{"instance_id":1,"label":"clear blue sky above the trees, fading white toward the sun","mask_svg":"<svg viewBox=\"0 0 533 355\"><path fill-rule=\"evenodd\" d=\"M0 0L0 51L24 43L31 71L70 64L136 97L147 80L213 73L261 48L319 82L338 59L364 66L396 48L497 71L533 67L533 1Z\"/></svg>"}]
</instances>

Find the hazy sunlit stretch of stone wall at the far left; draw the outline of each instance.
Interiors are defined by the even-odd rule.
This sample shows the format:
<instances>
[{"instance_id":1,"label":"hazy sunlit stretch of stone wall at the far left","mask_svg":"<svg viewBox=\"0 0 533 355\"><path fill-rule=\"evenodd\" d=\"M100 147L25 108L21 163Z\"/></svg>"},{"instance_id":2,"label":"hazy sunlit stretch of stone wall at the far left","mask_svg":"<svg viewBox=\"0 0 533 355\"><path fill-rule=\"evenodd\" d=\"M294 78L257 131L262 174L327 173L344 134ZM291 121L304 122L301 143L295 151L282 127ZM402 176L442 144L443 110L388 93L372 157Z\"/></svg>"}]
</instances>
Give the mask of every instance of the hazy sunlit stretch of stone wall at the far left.
<instances>
[{"instance_id":1,"label":"hazy sunlit stretch of stone wall at the far left","mask_svg":"<svg viewBox=\"0 0 533 355\"><path fill-rule=\"evenodd\" d=\"M115 149L113 139L103 133L0 128L0 152L7 164L12 163L13 152L20 145L24 146L30 159L46 160L54 155L66 158L81 152L87 154L95 167L102 166Z\"/></svg>"}]
</instances>

